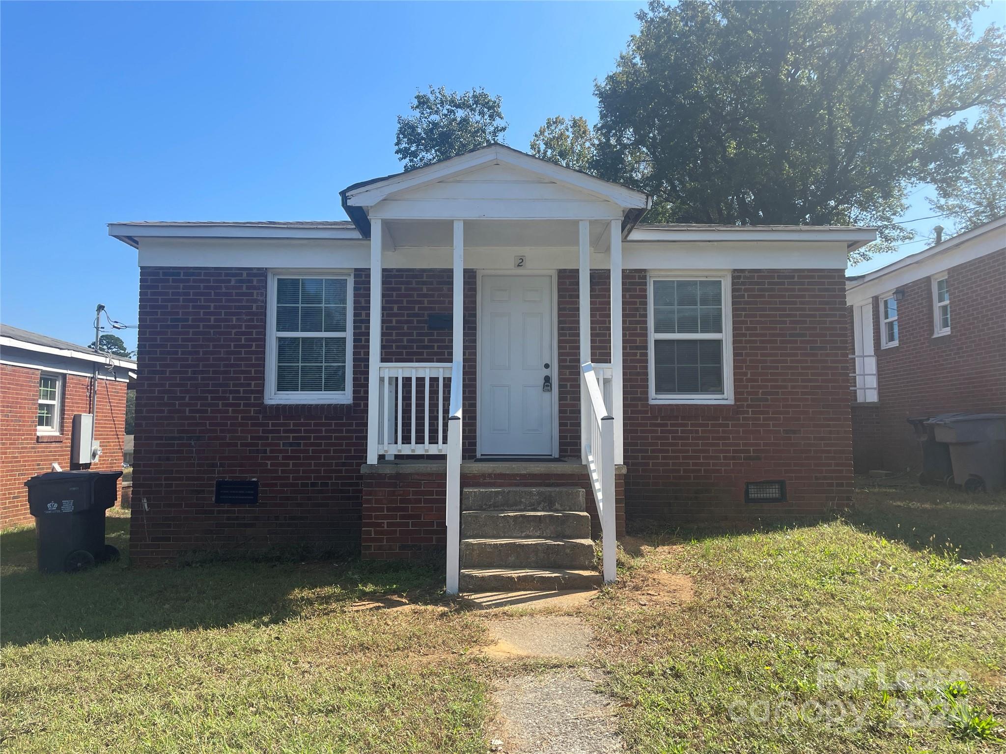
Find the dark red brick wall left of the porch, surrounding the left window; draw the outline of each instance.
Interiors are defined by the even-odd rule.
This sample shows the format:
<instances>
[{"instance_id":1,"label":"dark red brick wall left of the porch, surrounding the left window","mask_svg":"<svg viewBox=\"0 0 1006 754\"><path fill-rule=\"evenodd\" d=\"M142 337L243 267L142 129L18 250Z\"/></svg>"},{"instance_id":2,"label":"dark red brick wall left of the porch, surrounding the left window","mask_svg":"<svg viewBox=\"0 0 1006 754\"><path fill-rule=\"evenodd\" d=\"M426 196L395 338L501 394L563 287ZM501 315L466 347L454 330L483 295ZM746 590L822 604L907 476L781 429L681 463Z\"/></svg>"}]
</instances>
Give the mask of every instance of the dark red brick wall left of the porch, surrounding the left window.
<instances>
[{"instance_id":1,"label":"dark red brick wall left of the porch, surrounding the left window","mask_svg":"<svg viewBox=\"0 0 1006 754\"><path fill-rule=\"evenodd\" d=\"M140 271L133 562L193 551L355 551L369 275L356 270L352 405L265 405L265 269ZM258 479L258 506L213 503Z\"/></svg>"}]
</instances>

